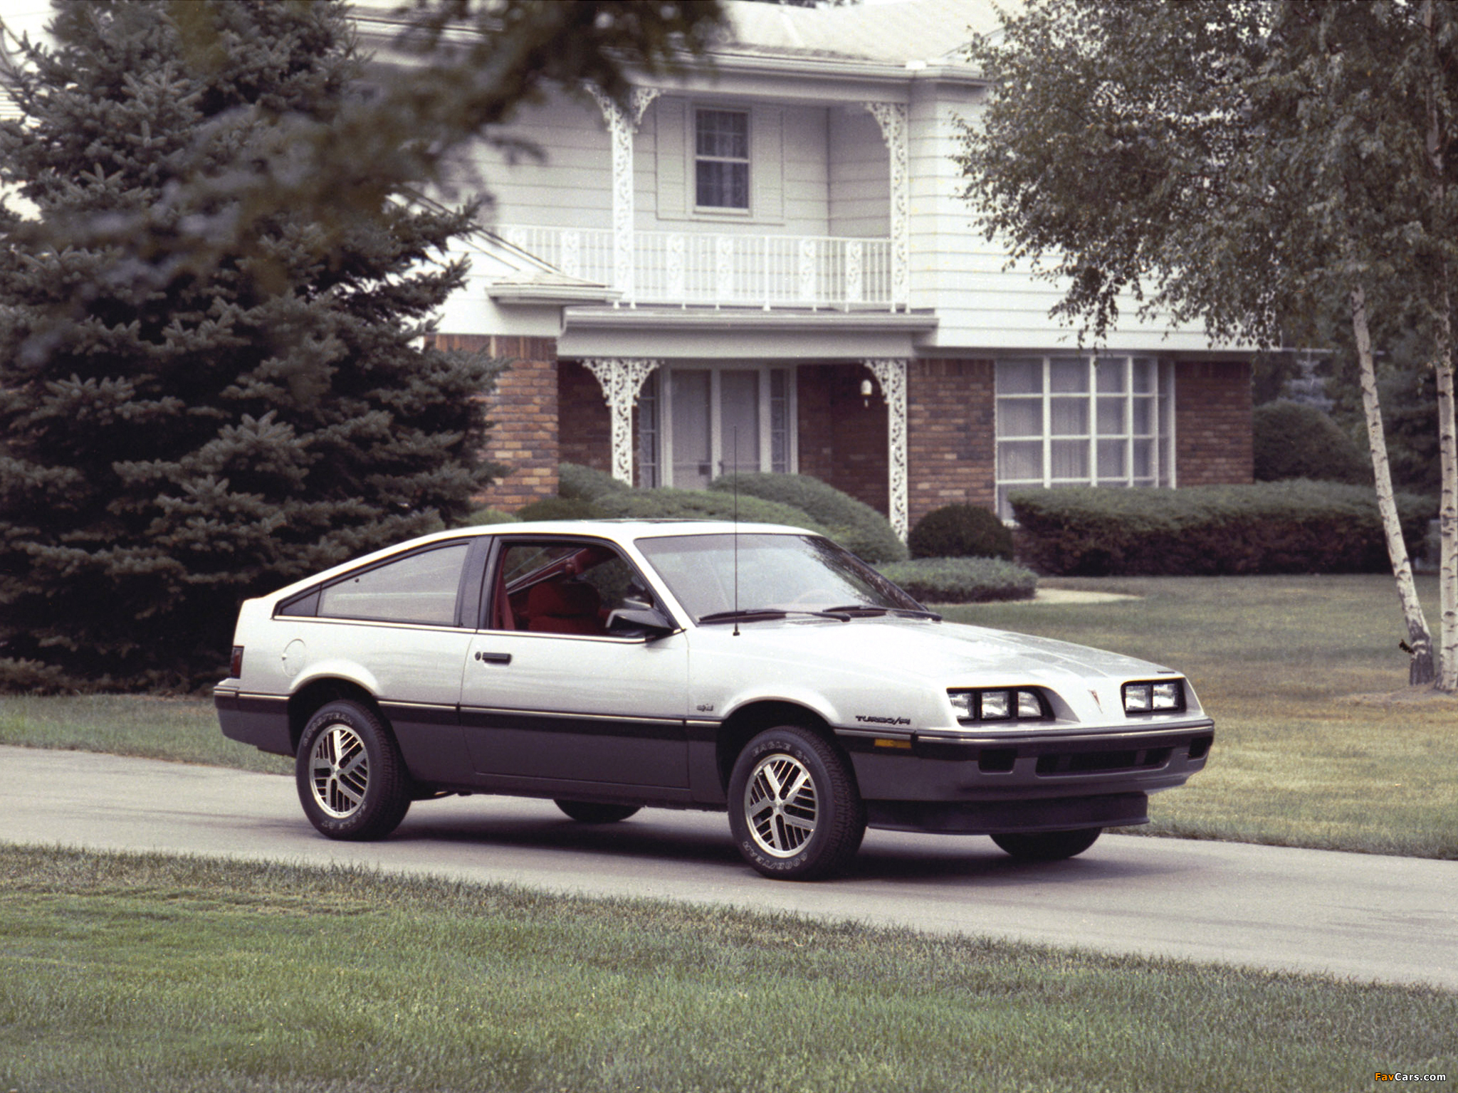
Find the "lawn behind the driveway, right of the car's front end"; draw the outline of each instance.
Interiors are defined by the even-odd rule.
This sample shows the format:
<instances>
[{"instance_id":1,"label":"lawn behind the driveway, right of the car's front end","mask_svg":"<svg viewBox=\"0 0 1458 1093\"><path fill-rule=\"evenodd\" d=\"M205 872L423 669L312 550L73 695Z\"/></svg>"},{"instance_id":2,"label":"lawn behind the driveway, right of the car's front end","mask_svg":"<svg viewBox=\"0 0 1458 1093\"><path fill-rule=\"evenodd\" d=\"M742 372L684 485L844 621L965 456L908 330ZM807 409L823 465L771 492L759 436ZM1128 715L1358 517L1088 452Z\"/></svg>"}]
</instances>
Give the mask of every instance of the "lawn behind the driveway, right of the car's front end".
<instances>
[{"instance_id":1,"label":"lawn behind the driveway, right of the car's front end","mask_svg":"<svg viewBox=\"0 0 1458 1093\"><path fill-rule=\"evenodd\" d=\"M1003 627L1169 665L1215 717L1215 751L1150 800L1155 835L1458 858L1458 700L1401 695L1406 635L1392 579L1108 577L1044 587L1114 603L948 608ZM1436 622L1436 586L1420 579ZM1416 701L1414 701L1416 700Z\"/></svg>"}]
</instances>

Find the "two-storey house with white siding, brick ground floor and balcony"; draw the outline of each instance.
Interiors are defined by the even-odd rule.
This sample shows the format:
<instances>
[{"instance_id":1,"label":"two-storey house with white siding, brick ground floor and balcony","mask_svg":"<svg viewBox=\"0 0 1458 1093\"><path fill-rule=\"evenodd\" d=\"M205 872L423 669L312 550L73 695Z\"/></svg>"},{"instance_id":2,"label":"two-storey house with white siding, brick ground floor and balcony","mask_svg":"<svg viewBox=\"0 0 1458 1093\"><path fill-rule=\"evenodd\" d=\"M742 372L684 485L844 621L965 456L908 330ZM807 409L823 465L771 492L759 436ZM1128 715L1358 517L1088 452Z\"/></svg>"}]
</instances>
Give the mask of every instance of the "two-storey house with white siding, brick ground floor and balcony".
<instances>
[{"instance_id":1,"label":"two-storey house with white siding, brick ground floor and balcony","mask_svg":"<svg viewBox=\"0 0 1458 1093\"><path fill-rule=\"evenodd\" d=\"M812 474L904 533L1028 485L1250 481L1247 356L1136 325L1080 351L1056 287L974 229L952 156L990 0L726 9L712 66L625 109L523 108L541 162L480 153L493 222L440 331L516 361L490 503L554 494L561 459L639 485L738 466Z\"/></svg>"}]
</instances>

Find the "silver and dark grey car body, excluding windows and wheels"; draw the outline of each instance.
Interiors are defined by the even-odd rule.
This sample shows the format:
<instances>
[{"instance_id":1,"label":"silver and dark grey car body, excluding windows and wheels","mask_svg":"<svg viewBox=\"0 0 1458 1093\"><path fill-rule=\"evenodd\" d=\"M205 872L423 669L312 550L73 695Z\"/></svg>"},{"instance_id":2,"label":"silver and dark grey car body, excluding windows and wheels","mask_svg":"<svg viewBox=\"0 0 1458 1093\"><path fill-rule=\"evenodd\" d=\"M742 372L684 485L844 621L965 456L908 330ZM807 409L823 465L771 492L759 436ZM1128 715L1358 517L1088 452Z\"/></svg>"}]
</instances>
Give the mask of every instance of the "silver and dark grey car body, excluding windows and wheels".
<instances>
[{"instance_id":1,"label":"silver and dark grey car body, excluding windows and wheels","mask_svg":"<svg viewBox=\"0 0 1458 1093\"><path fill-rule=\"evenodd\" d=\"M745 532L790 529L744 525ZM248 600L242 672L216 688L223 732L292 755L311 713L375 705L418 796L442 791L723 809L738 749L796 723L850 759L872 826L1012 832L1139 823L1147 794L1201 769L1213 721L1159 665L927 618L796 616L695 624L636 542L723 525L592 522L442 532ZM290 616L302 595L449 541L471 548L453 625ZM494 548L611 544L672 632L490 630ZM1181 679L1184 708L1126 714L1130 681ZM1035 688L1051 717L968 723L949 689Z\"/></svg>"}]
</instances>

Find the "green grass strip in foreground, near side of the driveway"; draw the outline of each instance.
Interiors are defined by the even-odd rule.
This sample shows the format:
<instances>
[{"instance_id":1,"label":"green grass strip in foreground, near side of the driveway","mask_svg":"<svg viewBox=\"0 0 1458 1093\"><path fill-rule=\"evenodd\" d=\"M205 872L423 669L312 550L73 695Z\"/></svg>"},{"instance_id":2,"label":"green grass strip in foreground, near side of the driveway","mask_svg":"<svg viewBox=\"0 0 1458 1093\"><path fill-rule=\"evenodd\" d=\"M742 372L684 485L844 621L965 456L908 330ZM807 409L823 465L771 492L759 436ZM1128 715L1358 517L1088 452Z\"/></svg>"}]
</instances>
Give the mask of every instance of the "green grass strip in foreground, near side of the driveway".
<instances>
[{"instance_id":1,"label":"green grass strip in foreground, near side of the driveway","mask_svg":"<svg viewBox=\"0 0 1458 1093\"><path fill-rule=\"evenodd\" d=\"M0 847L0 1089L1357 1090L1458 995L359 870Z\"/></svg>"}]
</instances>

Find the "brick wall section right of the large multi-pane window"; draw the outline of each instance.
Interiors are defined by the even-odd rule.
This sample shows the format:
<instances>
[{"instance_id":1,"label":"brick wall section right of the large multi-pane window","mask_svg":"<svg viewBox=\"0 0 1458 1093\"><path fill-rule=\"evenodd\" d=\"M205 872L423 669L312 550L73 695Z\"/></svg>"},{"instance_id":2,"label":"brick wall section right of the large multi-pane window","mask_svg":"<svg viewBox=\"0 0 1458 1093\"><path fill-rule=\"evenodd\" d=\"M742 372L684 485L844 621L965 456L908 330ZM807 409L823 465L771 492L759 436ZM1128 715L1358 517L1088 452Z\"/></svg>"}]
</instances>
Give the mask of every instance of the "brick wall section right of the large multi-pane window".
<instances>
[{"instance_id":1,"label":"brick wall section right of the large multi-pane window","mask_svg":"<svg viewBox=\"0 0 1458 1093\"><path fill-rule=\"evenodd\" d=\"M1194 361L1175 366L1175 479L1180 485L1250 482L1251 366Z\"/></svg>"}]
</instances>

